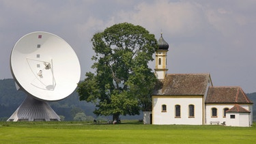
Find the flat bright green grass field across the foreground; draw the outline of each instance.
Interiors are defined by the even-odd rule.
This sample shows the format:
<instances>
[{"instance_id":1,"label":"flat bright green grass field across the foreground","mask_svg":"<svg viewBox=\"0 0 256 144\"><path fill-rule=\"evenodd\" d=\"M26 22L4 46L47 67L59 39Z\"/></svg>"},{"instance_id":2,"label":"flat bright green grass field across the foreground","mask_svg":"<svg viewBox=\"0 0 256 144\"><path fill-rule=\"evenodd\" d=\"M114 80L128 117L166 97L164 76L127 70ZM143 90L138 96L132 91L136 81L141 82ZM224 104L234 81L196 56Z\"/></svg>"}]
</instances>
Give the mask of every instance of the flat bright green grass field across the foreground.
<instances>
[{"instance_id":1,"label":"flat bright green grass field across the foreground","mask_svg":"<svg viewBox=\"0 0 256 144\"><path fill-rule=\"evenodd\" d=\"M256 143L256 127L1 121L0 143Z\"/></svg>"}]
</instances>

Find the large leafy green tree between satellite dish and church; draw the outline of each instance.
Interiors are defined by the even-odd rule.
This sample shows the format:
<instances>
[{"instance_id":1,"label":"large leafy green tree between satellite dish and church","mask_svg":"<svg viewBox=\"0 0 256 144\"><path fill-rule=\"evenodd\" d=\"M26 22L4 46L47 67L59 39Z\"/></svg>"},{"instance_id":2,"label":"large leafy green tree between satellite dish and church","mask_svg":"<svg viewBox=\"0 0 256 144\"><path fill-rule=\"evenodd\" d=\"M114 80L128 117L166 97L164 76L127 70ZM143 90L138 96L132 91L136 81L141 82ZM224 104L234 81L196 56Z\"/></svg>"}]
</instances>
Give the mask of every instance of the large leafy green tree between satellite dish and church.
<instances>
[{"instance_id":1,"label":"large leafy green tree between satellite dish and church","mask_svg":"<svg viewBox=\"0 0 256 144\"><path fill-rule=\"evenodd\" d=\"M151 109L156 76L148 67L158 44L145 28L119 23L94 34L95 72L79 83L80 100L94 102L96 115L138 115Z\"/></svg>"}]
</instances>

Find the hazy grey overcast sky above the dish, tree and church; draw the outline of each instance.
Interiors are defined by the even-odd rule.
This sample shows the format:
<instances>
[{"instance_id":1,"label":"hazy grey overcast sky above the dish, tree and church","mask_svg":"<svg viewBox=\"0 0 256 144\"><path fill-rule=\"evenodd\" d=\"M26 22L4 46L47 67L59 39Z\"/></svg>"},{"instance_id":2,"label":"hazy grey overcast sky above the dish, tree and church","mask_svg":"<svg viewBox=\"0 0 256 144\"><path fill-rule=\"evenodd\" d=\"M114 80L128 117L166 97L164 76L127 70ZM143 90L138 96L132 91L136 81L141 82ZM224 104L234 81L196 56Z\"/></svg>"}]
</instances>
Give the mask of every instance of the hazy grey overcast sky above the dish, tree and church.
<instances>
[{"instance_id":1,"label":"hazy grey overcast sky above the dish, tree and church","mask_svg":"<svg viewBox=\"0 0 256 144\"><path fill-rule=\"evenodd\" d=\"M124 22L145 27L156 40L162 31L169 43L168 73L210 73L214 86L256 92L255 0L0 0L0 79L12 78L12 48L33 31L66 40L84 79L94 33Z\"/></svg>"}]
</instances>

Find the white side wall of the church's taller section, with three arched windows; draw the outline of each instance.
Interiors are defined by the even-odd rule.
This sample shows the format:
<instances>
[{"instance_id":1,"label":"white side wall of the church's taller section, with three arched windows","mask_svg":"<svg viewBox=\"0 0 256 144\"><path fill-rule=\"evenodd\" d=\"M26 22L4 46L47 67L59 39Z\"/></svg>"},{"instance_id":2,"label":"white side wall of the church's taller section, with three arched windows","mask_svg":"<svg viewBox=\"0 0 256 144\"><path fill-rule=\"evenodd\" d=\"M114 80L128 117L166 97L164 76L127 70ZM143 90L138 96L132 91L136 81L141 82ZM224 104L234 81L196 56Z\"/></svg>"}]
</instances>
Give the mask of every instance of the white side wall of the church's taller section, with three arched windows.
<instances>
[{"instance_id":1,"label":"white side wall of the church's taller section, with three arched windows","mask_svg":"<svg viewBox=\"0 0 256 144\"><path fill-rule=\"evenodd\" d=\"M180 96L166 96L162 98L153 97L153 124L203 124L203 100L196 96L189 98L181 98ZM167 106L167 111L162 112L162 104ZM175 118L175 105L180 105L180 117ZM195 106L195 117L189 117L188 105Z\"/></svg>"}]
</instances>

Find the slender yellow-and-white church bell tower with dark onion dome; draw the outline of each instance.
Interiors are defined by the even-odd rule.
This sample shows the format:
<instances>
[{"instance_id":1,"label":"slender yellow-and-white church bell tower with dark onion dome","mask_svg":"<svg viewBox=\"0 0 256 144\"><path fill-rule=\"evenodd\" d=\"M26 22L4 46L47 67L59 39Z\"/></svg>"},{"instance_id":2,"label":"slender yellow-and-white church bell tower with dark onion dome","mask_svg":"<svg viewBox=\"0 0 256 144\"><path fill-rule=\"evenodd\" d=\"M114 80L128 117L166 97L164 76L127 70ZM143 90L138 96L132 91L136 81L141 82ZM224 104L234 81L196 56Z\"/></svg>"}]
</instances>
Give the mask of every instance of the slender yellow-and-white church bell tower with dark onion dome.
<instances>
[{"instance_id":1,"label":"slender yellow-and-white church bell tower with dark onion dome","mask_svg":"<svg viewBox=\"0 0 256 144\"><path fill-rule=\"evenodd\" d=\"M165 42L165 40L161 37L158 40L158 49L156 49L156 68L155 74L158 80L165 79L167 74L167 52L168 52L169 44Z\"/></svg>"}]
</instances>

